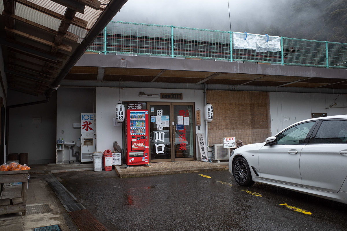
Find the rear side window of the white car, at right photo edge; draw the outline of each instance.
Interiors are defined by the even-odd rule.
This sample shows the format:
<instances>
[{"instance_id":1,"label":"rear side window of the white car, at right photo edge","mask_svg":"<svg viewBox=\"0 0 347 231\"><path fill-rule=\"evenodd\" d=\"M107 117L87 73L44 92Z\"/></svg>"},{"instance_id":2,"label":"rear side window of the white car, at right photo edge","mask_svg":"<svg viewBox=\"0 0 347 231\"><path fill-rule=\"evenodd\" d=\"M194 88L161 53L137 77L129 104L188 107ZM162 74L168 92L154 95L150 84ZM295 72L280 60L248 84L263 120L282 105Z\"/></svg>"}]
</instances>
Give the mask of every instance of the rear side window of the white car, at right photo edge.
<instances>
[{"instance_id":1,"label":"rear side window of the white car, at right photo edge","mask_svg":"<svg viewBox=\"0 0 347 231\"><path fill-rule=\"evenodd\" d=\"M346 143L347 121L326 120L322 121L314 137L315 144Z\"/></svg>"}]
</instances>

